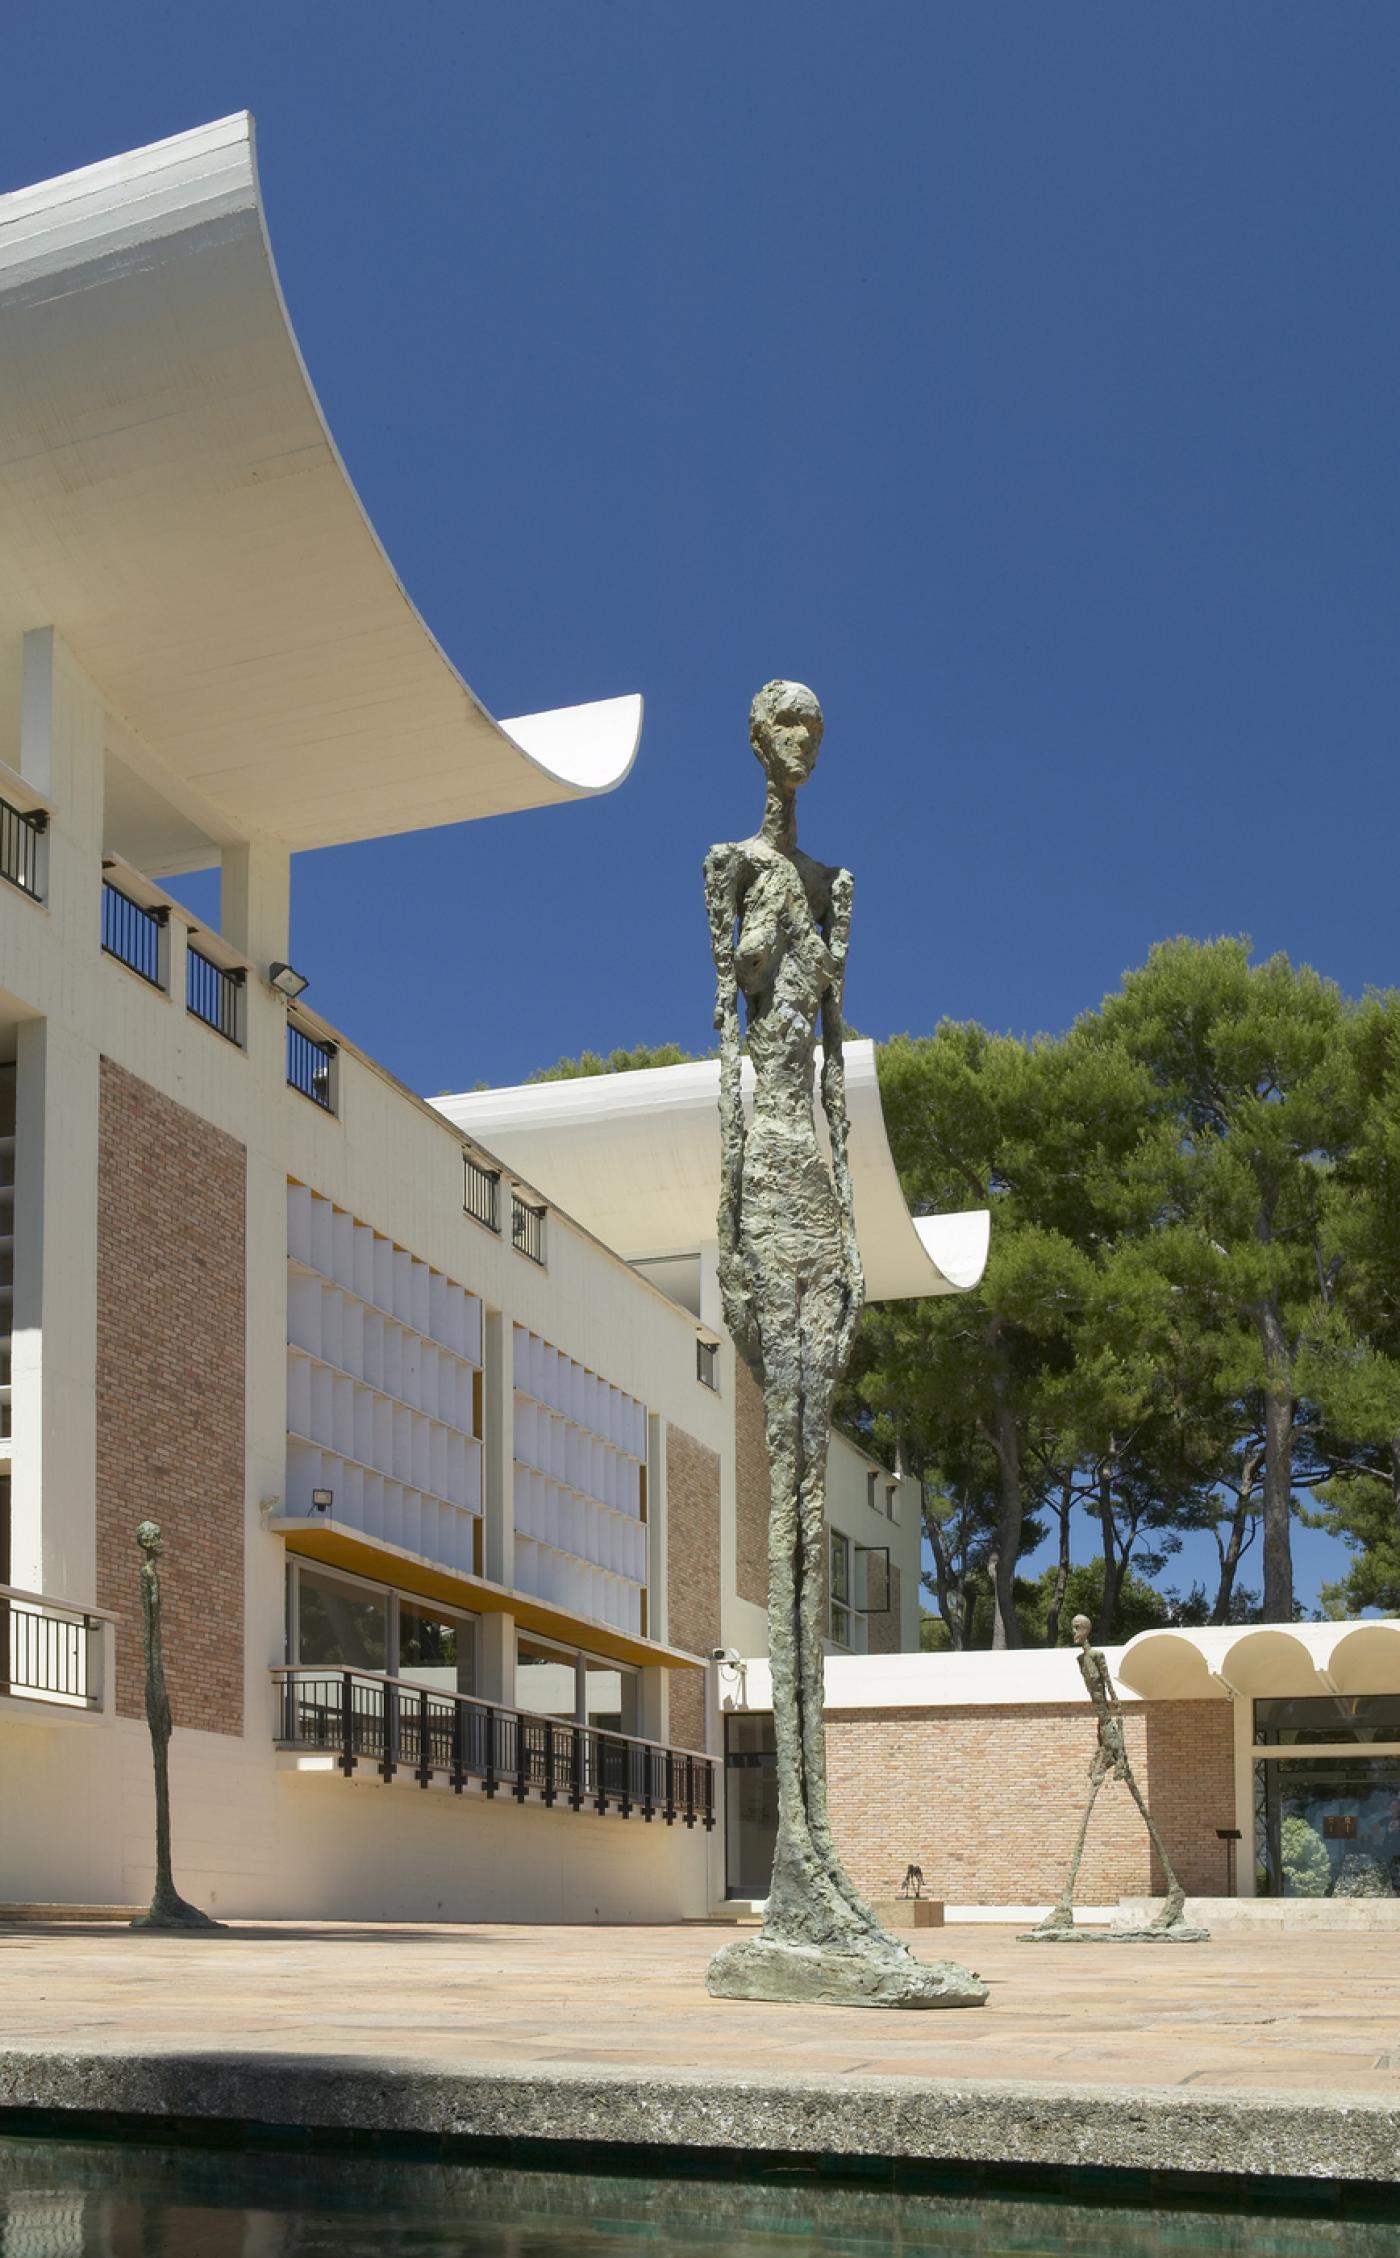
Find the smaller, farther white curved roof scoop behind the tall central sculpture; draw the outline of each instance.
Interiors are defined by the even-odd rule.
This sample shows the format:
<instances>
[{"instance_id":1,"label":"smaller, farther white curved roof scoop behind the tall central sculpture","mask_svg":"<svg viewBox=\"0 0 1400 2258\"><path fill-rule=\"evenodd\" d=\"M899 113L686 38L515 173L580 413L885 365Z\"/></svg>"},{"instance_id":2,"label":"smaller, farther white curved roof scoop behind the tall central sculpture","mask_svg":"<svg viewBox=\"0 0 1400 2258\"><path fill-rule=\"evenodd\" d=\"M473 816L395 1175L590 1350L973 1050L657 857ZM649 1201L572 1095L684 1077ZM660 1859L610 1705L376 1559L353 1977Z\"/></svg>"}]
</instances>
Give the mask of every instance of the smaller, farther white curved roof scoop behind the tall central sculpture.
<instances>
[{"instance_id":1,"label":"smaller, farther white curved roof scoop behind the tall central sculpture","mask_svg":"<svg viewBox=\"0 0 1400 2258\"><path fill-rule=\"evenodd\" d=\"M874 1043L845 1048L856 1233L872 1301L962 1294L987 1264L989 1215L910 1215L899 1188ZM752 1068L745 1059L745 1093ZM720 1199L718 1059L578 1082L434 1097L628 1262L695 1255ZM817 1129L826 1122L817 1106ZM657 1280L662 1283L662 1280Z\"/></svg>"}]
</instances>

